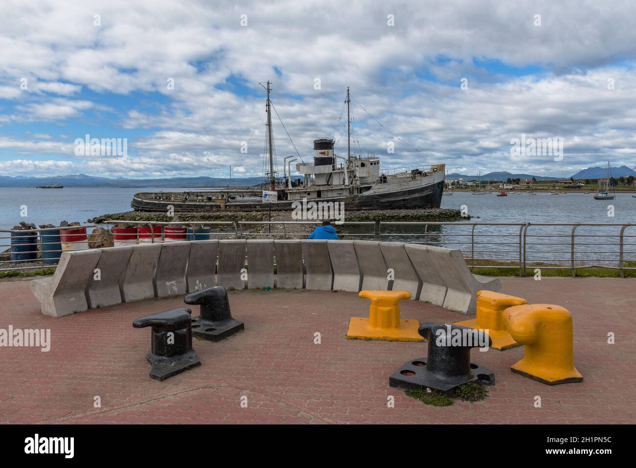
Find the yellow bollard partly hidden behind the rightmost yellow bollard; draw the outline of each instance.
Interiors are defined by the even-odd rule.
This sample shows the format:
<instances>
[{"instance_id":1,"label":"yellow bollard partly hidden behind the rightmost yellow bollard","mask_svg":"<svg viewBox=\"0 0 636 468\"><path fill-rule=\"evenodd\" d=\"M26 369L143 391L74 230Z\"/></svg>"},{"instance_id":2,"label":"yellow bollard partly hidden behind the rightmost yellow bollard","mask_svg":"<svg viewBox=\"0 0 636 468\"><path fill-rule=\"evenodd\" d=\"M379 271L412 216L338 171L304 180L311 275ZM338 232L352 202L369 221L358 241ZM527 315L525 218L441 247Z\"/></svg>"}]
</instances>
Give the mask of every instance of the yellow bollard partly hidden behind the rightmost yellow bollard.
<instances>
[{"instance_id":1,"label":"yellow bollard partly hidden behind the rightmost yellow bollard","mask_svg":"<svg viewBox=\"0 0 636 468\"><path fill-rule=\"evenodd\" d=\"M508 294L493 291L477 291L477 317L471 320L455 322L455 325L487 330L492 340L491 348L498 350L521 346L517 343L504 325L502 314L508 307L527 304L528 301Z\"/></svg>"}]
</instances>

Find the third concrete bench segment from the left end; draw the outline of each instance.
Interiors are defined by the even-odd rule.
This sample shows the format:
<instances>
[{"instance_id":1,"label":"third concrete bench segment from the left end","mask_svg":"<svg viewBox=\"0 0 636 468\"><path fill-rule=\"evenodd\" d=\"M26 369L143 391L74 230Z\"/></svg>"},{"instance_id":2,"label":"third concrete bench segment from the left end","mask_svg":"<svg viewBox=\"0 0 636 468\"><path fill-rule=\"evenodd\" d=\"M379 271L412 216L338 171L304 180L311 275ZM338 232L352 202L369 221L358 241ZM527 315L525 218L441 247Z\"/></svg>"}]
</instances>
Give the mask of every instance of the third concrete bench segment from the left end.
<instances>
[{"instance_id":1,"label":"third concrete bench segment from the left end","mask_svg":"<svg viewBox=\"0 0 636 468\"><path fill-rule=\"evenodd\" d=\"M155 270L161 244L139 244L130 247L132 254L120 283L121 300L142 301L155 297Z\"/></svg>"}]
</instances>

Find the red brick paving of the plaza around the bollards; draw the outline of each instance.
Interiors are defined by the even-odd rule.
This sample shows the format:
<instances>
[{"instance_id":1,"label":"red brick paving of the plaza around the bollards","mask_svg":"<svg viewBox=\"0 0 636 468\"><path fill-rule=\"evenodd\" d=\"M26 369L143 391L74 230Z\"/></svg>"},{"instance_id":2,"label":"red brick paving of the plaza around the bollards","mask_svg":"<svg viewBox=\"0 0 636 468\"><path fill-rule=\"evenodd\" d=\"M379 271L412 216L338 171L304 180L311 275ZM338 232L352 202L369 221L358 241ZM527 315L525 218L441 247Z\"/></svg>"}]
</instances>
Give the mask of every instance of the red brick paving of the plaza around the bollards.
<instances>
[{"instance_id":1,"label":"red brick paving of the plaza around the bollards","mask_svg":"<svg viewBox=\"0 0 636 468\"><path fill-rule=\"evenodd\" d=\"M245 331L195 341L202 366L164 382L148 376L149 329L132 320L183 299L121 304L55 319L39 312L28 280L0 281L0 328L50 328L50 352L0 348L3 423L633 423L636 420L636 280L504 278L502 292L565 306L574 318L582 383L548 386L511 373L523 348L473 351L495 374L489 397L434 408L388 386L424 343L347 340L368 301L350 292L230 291ZM415 301L403 318L465 318ZM314 333L321 344L314 344ZM616 344L607 344L607 334ZM101 397L101 408L93 397ZM241 397L247 408L241 408ZM387 408L387 397L395 407ZM534 407L541 396L542 407Z\"/></svg>"}]
</instances>

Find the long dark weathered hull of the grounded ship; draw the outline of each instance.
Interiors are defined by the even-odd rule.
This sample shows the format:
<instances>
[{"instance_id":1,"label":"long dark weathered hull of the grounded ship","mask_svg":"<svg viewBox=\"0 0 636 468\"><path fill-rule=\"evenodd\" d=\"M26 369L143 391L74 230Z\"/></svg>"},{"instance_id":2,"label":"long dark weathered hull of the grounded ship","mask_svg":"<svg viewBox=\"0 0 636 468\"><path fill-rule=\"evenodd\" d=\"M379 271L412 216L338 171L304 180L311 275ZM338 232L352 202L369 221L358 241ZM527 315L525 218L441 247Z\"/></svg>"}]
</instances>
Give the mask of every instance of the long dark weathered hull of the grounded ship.
<instances>
[{"instance_id":1,"label":"long dark weathered hull of the grounded ship","mask_svg":"<svg viewBox=\"0 0 636 468\"><path fill-rule=\"evenodd\" d=\"M399 193L381 193L376 195L348 195L333 198L311 198L307 202L343 202L346 210L386 210L386 209L430 209L439 208L444 182L423 188L404 190ZM135 197L130 207L137 211L167 211L170 205L175 212L205 212L205 211L266 211L291 210L291 200L275 203L261 202L230 202L225 207L214 202L174 202L170 200L144 200Z\"/></svg>"}]
</instances>

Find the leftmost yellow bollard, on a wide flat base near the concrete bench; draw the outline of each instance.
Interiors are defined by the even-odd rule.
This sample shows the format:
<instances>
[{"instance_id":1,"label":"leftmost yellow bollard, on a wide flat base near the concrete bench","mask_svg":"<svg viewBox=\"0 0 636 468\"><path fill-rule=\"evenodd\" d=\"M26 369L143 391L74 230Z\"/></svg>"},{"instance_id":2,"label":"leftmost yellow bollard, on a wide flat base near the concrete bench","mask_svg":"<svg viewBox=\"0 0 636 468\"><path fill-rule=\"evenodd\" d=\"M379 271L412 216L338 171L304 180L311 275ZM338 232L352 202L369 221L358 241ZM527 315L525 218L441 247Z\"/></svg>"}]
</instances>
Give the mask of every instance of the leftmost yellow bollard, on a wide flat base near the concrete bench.
<instances>
[{"instance_id":1,"label":"leftmost yellow bollard, on a wide flat base near the concrete bench","mask_svg":"<svg viewBox=\"0 0 636 468\"><path fill-rule=\"evenodd\" d=\"M417 320L401 320L399 305L410 299L406 291L360 291L358 297L371 301L369 318L351 317L347 338L357 340L424 341L417 333Z\"/></svg>"}]
</instances>

